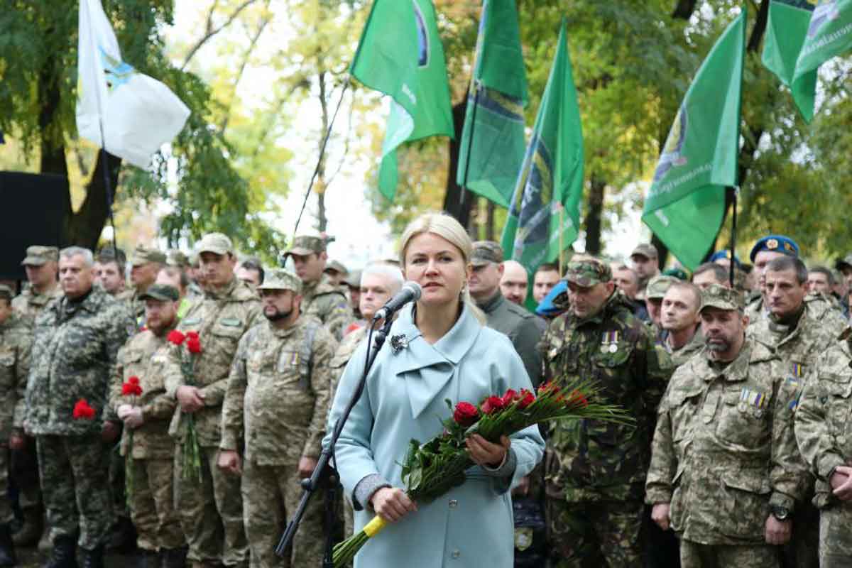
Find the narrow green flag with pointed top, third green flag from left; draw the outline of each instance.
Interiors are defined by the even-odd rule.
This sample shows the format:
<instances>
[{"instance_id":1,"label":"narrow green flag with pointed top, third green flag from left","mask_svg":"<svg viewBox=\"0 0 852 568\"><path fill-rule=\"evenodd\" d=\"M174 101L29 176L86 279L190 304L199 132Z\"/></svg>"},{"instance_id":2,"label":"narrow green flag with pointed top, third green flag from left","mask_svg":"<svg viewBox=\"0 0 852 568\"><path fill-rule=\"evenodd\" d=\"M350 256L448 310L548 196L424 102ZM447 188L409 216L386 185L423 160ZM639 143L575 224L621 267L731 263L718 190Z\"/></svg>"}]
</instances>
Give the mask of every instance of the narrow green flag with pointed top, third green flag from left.
<instances>
[{"instance_id":1,"label":"narrow green flag with pointed top, third green flag from left","mask_svg":"<svg viewBox=\"0 0 852 568\"><path fill-rule=\"evenodd\" d=\"M583 130L565 30L563 19L556 58L503 230L505 254L521 262L530 274L542 262L556 259L560 242L572 244L579 227Z\"/></svg>"}]
</instances>

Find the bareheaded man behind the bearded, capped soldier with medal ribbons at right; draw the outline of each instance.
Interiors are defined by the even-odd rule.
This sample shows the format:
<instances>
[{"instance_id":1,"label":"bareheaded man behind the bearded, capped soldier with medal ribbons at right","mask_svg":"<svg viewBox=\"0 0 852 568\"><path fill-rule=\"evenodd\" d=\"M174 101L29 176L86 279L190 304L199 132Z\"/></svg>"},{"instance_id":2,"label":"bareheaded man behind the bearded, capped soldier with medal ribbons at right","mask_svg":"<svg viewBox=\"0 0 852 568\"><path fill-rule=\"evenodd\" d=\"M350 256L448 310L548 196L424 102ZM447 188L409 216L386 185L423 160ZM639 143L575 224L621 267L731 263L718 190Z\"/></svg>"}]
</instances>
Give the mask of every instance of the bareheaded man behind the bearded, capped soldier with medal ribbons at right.
<instances>
[{"instance_id":1,"label":"bareheaded man behind the bearded, capped soldier with medal ribbons at right","mask_svg":"<svg viewBox=\"0 0 852 568\"><path fill-rule=\"evenodd\" d=\"M688 282L672 284L663 296L660 324L665 336L662 345L677 367L704 348L704 335L699 329L700 307L701 290Z\"/></svg>"}]
</instances>

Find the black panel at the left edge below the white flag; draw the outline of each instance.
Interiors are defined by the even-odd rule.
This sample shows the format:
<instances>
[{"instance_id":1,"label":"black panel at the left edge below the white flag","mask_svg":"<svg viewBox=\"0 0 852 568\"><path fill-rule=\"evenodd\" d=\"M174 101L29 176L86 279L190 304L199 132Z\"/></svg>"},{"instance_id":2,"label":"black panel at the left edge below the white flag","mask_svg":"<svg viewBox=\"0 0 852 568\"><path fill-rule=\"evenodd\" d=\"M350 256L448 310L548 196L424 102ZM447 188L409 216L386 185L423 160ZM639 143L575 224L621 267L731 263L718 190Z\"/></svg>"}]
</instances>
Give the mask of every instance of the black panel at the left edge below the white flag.
<instances>
[{"instance_id":1,"label":"black panel at the left edge below the white flag","mask_svg":"<svg viewBox=\"0 0 852 568\"><path fill-rule=\"evenodd\" d=\"M20 261L31 244L60 246L68 199L62 175L0 171L0 278L26 278Z\"/></svg>"}]
</instances>

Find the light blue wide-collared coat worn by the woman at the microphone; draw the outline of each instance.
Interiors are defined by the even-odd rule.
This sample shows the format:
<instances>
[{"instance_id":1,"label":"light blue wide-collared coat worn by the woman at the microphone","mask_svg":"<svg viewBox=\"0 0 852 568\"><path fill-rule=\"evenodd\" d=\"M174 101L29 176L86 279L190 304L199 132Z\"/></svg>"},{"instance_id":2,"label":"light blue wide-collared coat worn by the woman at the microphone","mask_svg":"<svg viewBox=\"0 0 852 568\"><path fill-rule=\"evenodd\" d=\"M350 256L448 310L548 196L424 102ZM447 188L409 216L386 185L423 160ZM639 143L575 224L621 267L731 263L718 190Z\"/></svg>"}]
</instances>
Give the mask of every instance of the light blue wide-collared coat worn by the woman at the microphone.
<instances>
[{"instance_id":1,"label":"light blue wide-collared coat worn by the woman at the microphone","mask_svg":"<svg viewBox=\"0 0 852 568\"><path fill-rule=\"evenodd\" d=\"M390 338L400 334L408 345L394 353ZM360 380L365 356L366 341L343 373L329 432ZM429 345L412 322L412 307L406 307L391 327L337 442L335 459L345 491L353 495L358 482L373 474L405 487L400 462L409 441L423 443L441 433L440 421L450 416L445 399L478 404L509 387L533 388L508 337L482 327L465 307L452 330ZM416 513L367 542L355 557L355 568L511 568L515 537L509 487L542 457L544 440L538 428L512 436L511 452L514 472L494 477L482 468L470 468L463 485L435 502L418 504ZM357 511L355 531L373 516L369 508Z\"/></svg>"}]
</instances>

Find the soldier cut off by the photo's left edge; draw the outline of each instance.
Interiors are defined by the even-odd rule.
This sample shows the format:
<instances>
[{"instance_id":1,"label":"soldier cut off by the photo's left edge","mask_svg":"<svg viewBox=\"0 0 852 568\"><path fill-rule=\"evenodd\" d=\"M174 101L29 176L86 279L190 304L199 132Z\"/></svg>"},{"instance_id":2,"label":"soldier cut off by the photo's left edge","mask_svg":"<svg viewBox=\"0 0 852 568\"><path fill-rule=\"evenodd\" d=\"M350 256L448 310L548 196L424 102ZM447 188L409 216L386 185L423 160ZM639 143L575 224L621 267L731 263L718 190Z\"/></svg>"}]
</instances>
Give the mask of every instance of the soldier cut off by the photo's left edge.
<instances>
[{"instance_id":1,"label":"soldier cut off by the photo's left edge","mask_svg":"<svg viewBox=\"0 0 852 568\"><path fill-rule=\"evenodd\" d=\"M26 375L30 369L30 330L12 310L12 289L0 284L0 444L23 447ZM9 452L0 448L0 566L15 563L9 531Z\"/></svg>"}]
</instances>

